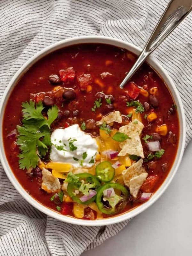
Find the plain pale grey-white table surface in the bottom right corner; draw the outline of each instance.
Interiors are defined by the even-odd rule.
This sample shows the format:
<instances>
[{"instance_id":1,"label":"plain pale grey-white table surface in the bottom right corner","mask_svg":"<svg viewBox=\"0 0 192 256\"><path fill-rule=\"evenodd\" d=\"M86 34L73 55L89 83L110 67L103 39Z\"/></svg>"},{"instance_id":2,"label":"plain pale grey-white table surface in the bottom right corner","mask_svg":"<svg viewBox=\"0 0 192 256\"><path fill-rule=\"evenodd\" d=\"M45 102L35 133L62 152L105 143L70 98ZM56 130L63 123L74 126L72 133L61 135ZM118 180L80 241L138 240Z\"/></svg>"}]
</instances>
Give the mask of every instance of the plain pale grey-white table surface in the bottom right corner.
<instances>
[{"instance_id":1,"label":"plain pale grey-white table surface in the bottom right corner","mask_svg":"<svg viewBox=\"0 0 192 256\"><path fill-rule=\"evenodd\" d=\"M192 256L192 141L163 196L88 255Z\"/></svg>"}]
</instances>

